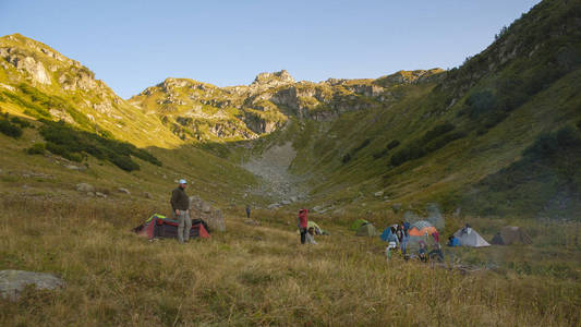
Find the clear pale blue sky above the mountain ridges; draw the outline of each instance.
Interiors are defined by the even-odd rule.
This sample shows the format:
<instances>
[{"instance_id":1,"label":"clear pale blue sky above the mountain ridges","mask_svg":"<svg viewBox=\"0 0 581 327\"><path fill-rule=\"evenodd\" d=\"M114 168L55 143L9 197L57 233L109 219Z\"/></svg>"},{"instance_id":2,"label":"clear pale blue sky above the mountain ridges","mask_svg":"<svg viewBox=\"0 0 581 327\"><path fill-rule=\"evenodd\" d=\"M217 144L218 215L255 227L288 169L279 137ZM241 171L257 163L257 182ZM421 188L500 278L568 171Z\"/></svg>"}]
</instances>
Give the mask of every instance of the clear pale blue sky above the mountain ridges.
<instances>
[{"instance_id":1,"label":"clear pale blue sky above the mountain ridges","mask_svg":"<svg viewBox=\"0 0 581 327\"><path fill-rule=\"evenodd\" d=\"M538 0L10 1L21 33L93 70L123 98L168 76L219 86L453 68Z\"/></svg>"}]
</instances>

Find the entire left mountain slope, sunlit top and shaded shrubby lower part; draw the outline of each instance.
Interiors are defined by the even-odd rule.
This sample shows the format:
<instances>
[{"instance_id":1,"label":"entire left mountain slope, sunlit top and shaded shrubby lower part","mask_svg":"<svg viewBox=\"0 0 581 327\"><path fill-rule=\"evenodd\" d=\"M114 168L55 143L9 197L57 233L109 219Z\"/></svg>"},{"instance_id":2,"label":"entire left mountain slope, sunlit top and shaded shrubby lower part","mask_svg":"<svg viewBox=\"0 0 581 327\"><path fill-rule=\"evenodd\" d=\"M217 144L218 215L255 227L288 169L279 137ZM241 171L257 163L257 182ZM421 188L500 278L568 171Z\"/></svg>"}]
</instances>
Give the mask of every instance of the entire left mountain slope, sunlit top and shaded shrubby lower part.
<instances>
[{"instance_id":1,"label":"entire left mountain slope, sunlit top and shaded shrubby lower part","mask_svg":"<svg viewBox=\"0 0 581 327\"><path fill-rule=\"evenodd\" d=\"M17 34L0 38L0 113L2 196L72 198L85 182L113 202L150 202L184 177L192 194L226 207L255 183L247 171L185 144L87 68ZM4 134L14 129L22 131Z\"/></svg>"}]
</instances>

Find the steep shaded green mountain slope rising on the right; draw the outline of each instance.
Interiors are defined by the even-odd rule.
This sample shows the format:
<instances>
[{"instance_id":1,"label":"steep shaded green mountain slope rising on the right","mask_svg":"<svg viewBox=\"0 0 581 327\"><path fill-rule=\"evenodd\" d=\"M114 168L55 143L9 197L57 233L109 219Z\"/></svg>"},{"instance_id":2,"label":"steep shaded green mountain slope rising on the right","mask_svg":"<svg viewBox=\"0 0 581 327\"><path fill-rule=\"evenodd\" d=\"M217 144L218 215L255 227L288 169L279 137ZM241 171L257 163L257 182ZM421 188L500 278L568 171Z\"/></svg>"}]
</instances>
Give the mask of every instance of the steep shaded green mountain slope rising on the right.
<instances>
[{"instance_id":1,"label":"steep shaded green mountain slope rising on the right","mask_svg":"<svg viewBox=\"0 0 581 327\"><path fill-rule=\"evenodd\" d=\"M548 204L565 197L561 206L570 206L566 217L579 217L579 192L566 191L577 190L576 179L574 187L569 183L561 190L532 174L535 186L522 185L511 201L507 194L491 194L495 187L489 183L499 181L488 179L482 191L488 199L476 201L472 194L479 194L481 181L521 160L545 133L577 129L580 21L579 1L543 1L462 66L427 83L399 85L392 92L400 96L389 106L330 121L299 121L277 142L293 142L299 154L292 171L310 177L313 203L329 208L417 208L438 202L449 210L461 206L480 214L564 217ZM577 153L568 155L578 159ZM565 169L562 162L550 162L545 171ZM374 196L377 191L384 195ZM526 199L530 194L543 194L534 197L535 206ZM499 202L505 208L491 210Z\"/></svg>"}]
</instances>

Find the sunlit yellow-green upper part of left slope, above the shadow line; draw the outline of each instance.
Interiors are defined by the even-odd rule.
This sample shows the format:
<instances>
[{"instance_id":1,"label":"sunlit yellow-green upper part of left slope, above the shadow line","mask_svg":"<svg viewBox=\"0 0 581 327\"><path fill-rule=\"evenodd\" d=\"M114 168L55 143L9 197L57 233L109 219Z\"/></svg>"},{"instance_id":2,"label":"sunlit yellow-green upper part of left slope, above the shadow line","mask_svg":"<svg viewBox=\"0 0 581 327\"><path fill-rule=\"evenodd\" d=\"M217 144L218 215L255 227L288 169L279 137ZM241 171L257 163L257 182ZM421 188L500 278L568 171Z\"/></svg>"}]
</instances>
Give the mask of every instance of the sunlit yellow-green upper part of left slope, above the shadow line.
<instances>
[{"instance_id":1,"label":"sunlit yellow-green upper part of left slope, above the shadow line","mask_svg":"<svg viewBox=\"0 0 581 327\"><path fill-rule=\"evenodd\" d=\"M174 146L180 140L156 116L117 96L80 62L47 45L14 34L0 38L0 108L136 145Z\"/></svg>"}]
</instances>

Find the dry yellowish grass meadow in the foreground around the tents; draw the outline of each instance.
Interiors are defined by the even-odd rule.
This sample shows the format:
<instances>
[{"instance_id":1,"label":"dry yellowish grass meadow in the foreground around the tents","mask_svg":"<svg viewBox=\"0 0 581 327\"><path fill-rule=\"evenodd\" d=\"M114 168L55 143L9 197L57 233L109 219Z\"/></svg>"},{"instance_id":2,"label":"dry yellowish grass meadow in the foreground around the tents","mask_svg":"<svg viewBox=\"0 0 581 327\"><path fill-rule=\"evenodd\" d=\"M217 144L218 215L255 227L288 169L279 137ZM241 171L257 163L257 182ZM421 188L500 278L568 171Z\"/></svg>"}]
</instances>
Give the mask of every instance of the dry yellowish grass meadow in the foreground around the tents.
<instances>
[{"instance_id":1,"label":"dry yellowish grass meadow in the foreground around the tents","mask_svg":"<svg viewBox=\"0 0 581 327\"><path fill-rule=\"evenodd\" d=\"M269 211L256 213L259 227L230 213L226 232L185 245L136 237L131 229L158 207L2 198L0 269L53 272L66 287L27 288L15 303L0 300L0 325L581 324L579 226L564 244L447 253L485 267L486 256L507 252L494 269L462 272L387 263L385 244L354 237L344 227L349 217L316 217L331 235L311 246L300 246L292 214ZM546 241L543 229L559 228L533 230L535 242ZM523 262L533 268L516 268Z\"/></svg>"}]
</instances>

